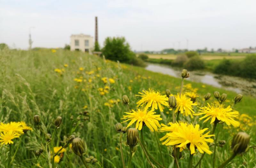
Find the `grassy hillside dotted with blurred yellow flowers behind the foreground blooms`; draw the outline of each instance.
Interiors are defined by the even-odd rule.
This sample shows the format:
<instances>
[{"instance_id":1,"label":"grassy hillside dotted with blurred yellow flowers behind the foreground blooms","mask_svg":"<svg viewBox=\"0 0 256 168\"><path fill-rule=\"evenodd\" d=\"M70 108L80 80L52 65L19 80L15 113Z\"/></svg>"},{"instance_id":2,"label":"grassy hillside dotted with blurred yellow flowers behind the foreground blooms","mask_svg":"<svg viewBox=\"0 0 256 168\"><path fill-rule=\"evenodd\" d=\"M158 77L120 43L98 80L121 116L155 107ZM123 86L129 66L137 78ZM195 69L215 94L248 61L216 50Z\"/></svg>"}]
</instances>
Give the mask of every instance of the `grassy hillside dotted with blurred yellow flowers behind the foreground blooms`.
<instances>
[{"instance_id":1,"label":"grassy hillside dotted with blurred yellow flowers behind the foreground blooms","mask_svg":"<svg viewBox=\"0 0 256 168\"><path fill-rule=\"evenodd\" d=\"M139 97L135 94L142 90L155 89L164 94L170 89L173 94L180 90L181 79L153 73L143 68L133 67L104 60L97 56L86 55L81 52L70 52L58 49L56 52L47 51L0 51L0 121L25 121L34 131L23 135L19 142L13 140L12 155L18 148L13 167L49 167L46 162L47 153L37 158L35 151L45 149L45 136L33 124L33 116L38 114L44 130L53 133L54 120L62 117L62 126L57 129L55 146L65 144L65 137L71 134L81 137L87 144L85 157L93 156L98 159L94 167L122 167L119 134L115 124L120 122L128 107L122 104L122 95L130 98L129 107L134 109ZM105 82L106 83L105 83ZM198 102L202 102L205 93L218 90L228 94L230 104L236 93L217 89L208 85L184 82L184 91L197 91L200 95ZM210 102L214 102L213 98ZM255 111L256 99L244 96L243 101L236 105L241 116L241 127L224 127L219 139L226 140L223 148L218 147L218 164L230 156L230 140L232 136L244 130L251 134L251 145L255 145ZM157 110L157 113L160 113ZM165 108L161 113L162 123L170 122L170 111ZM251 118L250 118L251 117ZM190 120L188 120L190 121ZM127 125L127 123L124 123ZM226 125L225 125L226 126ZM211 129L211 125L207 124ZM253 129L252 129L253 128ZM217 128L219 129L219 128ZM162 137L164 133L157 133ZM154 134L145 129L145 142L149 153L160 160ZM123 137L126 141L126 135ZM161 145L164 153L164 162L168 167L173 163L167 147ZM129 147L123 144L125 162L128 162ZM212 150L212 149L211 149ZM185 152L184 152L185 153ZM0 146L0 167L5 167L9 154L7 145ZM201 154L194 156L196 163ZM71 149L60 156L58 167L83 167L80 158ZM186 167L188 155L185 154L181 167ZM250 150L243 156L236 157L229 167L255 166L255 151ZM205 155L201 167L209 167L211 155ZM40 165L40 166L39 166ZM56 164L55 164L56 165ZM132 167L149 167L146 157L140 147L132 158ZM172 166L171 166L172 167Z\"/></svg>"}]
</instances>

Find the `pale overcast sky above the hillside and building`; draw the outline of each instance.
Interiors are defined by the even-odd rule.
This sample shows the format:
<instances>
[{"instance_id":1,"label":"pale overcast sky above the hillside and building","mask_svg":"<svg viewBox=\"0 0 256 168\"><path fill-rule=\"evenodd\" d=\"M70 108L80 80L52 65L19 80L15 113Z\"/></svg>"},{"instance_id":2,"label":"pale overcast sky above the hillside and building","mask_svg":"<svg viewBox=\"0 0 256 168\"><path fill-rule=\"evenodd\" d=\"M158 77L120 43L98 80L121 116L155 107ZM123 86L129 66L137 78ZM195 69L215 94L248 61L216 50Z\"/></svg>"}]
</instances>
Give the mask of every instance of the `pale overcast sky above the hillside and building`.
<instances>
[{"instance_id":1,"label":"pale overcast sky above the hillside and building","mask_svg":"<svg viewBox=\"0 0 256 168\"><path fill-rule=\"evenodd\" d=\"M132 50L256 47L255 0L0 0L0 43L64 47L71 34L99 43L124 36ZM31 28L32 27L32 28Z\"/></svg>"}]
</instances>

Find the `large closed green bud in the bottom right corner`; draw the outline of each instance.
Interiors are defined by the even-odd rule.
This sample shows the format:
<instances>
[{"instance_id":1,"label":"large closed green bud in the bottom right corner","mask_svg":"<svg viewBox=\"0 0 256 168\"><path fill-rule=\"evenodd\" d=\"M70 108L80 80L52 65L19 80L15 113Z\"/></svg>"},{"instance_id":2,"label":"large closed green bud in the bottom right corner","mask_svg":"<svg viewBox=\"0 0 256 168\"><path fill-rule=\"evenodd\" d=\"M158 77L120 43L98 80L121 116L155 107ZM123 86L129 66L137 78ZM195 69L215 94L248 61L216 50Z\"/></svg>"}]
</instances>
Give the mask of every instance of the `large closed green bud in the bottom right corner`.
<instances>
[{"instance_id":1,"label":"large closed green bud in the bottom right corner","mask_svg":"<svg viewBox=\"0 0 256 168\"><path fill-rule=\"evenodd\" d=\"M235 154L241 154L248 150L250 136L245 132L237 133L232 140L231 149Z\"/></svg>"}]
</instances>

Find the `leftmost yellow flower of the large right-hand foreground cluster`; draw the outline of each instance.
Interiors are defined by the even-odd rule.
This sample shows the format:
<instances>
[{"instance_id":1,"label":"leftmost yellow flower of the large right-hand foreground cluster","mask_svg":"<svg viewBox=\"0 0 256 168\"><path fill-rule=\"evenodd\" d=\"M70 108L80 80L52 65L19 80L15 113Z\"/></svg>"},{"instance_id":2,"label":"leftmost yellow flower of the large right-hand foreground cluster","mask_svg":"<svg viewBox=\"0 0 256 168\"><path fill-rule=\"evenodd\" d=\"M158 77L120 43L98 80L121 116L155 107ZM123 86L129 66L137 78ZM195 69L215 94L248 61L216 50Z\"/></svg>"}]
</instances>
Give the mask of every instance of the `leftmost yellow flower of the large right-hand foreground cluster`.
<instances>
[{"instance_id":1,"label":"leftmost yellow flower of the large right-hand foreground cluster","mask_svg":"<svg viewBox=\"0 0 256 168\"><path fill-rule=\"evenodd\" d=\"M144 123L152 132L154 130L157 131L157 127L161 127L158 121L162 120L162 118L160 117L160 114L155 115L155 112L153 110L148 111L146 108L138 108L137 111L132 110L130 112L132 113L124 112L128 115L124 115L122 118L122 120L125 120L123 122L130 121L127 127L131 126L136 121L137 122L135 128L139 130L142 129Z\"/></svg>"}]
</instances>

